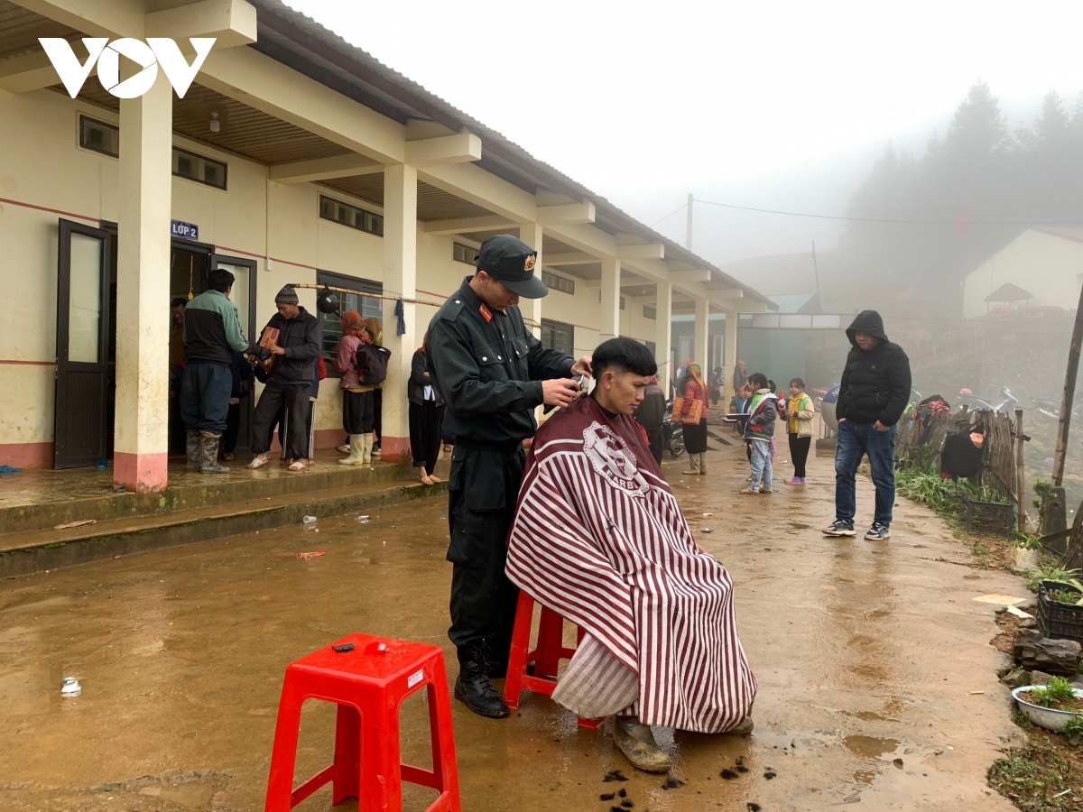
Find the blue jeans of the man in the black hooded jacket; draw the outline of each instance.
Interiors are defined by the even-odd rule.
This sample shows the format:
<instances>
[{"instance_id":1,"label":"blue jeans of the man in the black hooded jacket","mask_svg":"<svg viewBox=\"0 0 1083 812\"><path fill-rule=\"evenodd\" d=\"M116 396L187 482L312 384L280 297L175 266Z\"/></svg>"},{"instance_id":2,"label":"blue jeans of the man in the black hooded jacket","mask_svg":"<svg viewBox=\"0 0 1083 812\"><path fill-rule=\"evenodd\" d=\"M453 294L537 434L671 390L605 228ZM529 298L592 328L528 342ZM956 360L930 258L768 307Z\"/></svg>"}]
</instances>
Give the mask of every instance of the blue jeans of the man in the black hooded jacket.
<instances>
[{"instance_id":1,"label":"blue jeans of the man in the black hooded jacket","mask_svg":"<svg viewBox=\"0 0 1083 812\"><path fill-rule=\"evenodd\" d=\"M873 521L885 527L891 525L891 508L895 506L895 435L897 427L887 431L876 431L872 423L852 423L844 420L838 424L835 448L835 519L853 521L857 512L857 484L854 476L861 458L869 455L869 467L873 471L876 486L876 513Z\"/></svg>"}]
</instances>

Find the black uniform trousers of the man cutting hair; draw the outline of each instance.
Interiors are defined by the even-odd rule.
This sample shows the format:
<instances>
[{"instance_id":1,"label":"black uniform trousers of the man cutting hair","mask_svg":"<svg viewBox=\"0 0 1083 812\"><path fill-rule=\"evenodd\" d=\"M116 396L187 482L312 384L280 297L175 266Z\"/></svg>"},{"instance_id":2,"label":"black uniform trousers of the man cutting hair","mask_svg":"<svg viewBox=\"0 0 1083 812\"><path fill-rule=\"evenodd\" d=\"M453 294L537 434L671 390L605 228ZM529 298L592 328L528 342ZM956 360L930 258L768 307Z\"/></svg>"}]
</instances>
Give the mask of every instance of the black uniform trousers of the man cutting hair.
<instances>
[{"instance_id":1,"label":"black uniform trousers of the man cutting hair","mask_svg":"<svg viewBox=\"0 0 1083 812\"><path fill-rule=\"evenodd\" d=\"M511 646L519 588L504 573L505 539L516 512L526 455L514 450L468 448L459 437L447 480L447 520L452 541L452 627L457 646L488 643L498 660Z\"/></svg>"}]
</instances>

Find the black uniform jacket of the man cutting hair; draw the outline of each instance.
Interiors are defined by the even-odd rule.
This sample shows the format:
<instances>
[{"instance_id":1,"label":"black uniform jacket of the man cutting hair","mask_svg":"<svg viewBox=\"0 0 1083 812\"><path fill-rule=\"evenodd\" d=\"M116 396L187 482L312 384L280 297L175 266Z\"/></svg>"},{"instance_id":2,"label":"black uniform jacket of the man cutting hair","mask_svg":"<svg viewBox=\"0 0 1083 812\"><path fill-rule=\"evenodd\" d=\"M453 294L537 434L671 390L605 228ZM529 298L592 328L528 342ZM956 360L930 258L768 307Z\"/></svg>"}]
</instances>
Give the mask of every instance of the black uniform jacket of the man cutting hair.
<instances>
[{"instance_id":1,"label":"black uniform jacket of the man cutting hair","mask_svg":"<svg viewBox=\"0 0 1083 812\"><path fill-rule=\"evenodd\" d=\"M546 350L519 307L491 311L470 277L429 325L429 375L447 411L444 427L465 447L514 450L534 435L542 381L571 377L574 359Z\"/></svg>"}]
</instances>

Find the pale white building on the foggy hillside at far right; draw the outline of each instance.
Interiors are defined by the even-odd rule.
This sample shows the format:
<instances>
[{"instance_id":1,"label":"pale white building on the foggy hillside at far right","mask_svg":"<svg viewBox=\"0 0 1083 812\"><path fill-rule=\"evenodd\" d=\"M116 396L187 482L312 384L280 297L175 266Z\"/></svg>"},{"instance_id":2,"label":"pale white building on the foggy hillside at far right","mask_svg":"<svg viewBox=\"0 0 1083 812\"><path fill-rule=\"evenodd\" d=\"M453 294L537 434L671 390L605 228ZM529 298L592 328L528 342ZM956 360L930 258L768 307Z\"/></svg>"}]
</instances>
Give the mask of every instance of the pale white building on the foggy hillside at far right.
<instances>
[{"instance_id":1,"label":"pale white building on the foggy hillside at far right","mask_svg":"<svg viewBox=\"0 0 1083 812\"><path fill-rule=\"evenodd\" d=\"M1083 228L1028 228L963 279L963 317L1064 313L1081 286Z\"/></svg>"}]
</instances>

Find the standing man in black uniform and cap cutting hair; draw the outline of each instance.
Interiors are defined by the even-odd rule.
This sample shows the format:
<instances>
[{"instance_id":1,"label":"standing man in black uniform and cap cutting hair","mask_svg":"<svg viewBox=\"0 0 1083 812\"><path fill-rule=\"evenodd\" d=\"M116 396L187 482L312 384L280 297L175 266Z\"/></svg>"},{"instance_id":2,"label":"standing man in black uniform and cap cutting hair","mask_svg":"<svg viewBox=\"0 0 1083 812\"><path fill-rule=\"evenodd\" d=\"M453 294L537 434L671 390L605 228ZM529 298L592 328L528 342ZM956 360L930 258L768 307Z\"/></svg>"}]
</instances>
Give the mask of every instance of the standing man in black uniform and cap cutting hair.
<instances>
[{"instance_id":1,"label":"standing man in black uniform and cap cutting hair","mask_svg":"<svg viewBox=\"0 0 1083 812\"><path fill-rule=\"evenodd\" d=\"M490 237L478 272L429 325L429 374L455 434L447 482L455 697L493 719L508 716L490 679L507 671L519 600L504 574L504 542L526 459L523 441L537 428L534 407L566 406L578 391L572 378L590 374L589 356L546 350L523 324L519 298L549 292L534 275L536 262L537 251L516 237Z\"/></svg>"}]
</instances>

